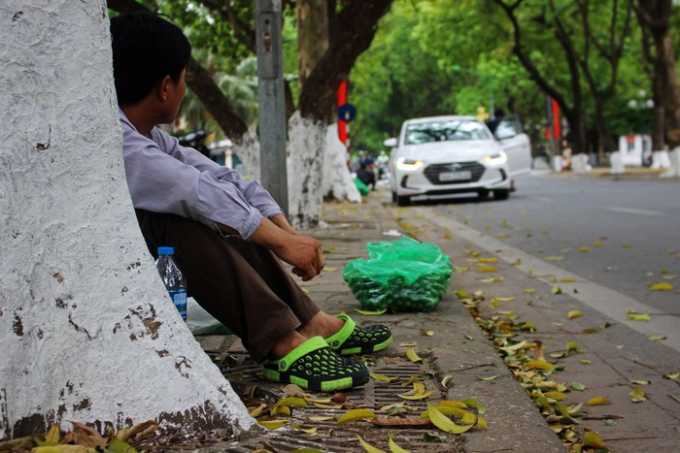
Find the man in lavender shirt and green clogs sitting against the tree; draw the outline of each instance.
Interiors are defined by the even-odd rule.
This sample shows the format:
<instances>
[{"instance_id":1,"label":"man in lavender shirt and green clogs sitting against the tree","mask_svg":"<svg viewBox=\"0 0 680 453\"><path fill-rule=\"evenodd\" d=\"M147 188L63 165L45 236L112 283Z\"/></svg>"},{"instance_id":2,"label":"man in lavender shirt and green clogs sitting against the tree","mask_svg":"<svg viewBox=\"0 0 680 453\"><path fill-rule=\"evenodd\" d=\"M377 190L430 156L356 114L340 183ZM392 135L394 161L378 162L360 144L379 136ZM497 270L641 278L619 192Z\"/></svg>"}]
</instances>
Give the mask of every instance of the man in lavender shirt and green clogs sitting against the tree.
<instances>
[{"instance_id":1,"label":"man in lavender shirt and green clogs sitting against the tree","mask_svg":"<svg viewBox=\"0 0 680 453\"><path fill-rule=\"evenodd\" d=\"M151 13L111 21L113 71L132 203L152 255L173 246L190 295L238 335L264 376L320 391L363 385L363 362L342 357L385 349L384 325L357 326L321 311L303 281L324 267L321 244L299 234L255 181L180 146L158 129L185 93L191 45Z\"/></svg>"}]
</instances>

